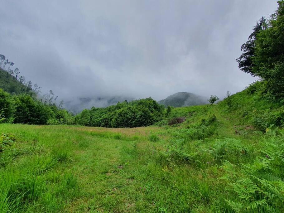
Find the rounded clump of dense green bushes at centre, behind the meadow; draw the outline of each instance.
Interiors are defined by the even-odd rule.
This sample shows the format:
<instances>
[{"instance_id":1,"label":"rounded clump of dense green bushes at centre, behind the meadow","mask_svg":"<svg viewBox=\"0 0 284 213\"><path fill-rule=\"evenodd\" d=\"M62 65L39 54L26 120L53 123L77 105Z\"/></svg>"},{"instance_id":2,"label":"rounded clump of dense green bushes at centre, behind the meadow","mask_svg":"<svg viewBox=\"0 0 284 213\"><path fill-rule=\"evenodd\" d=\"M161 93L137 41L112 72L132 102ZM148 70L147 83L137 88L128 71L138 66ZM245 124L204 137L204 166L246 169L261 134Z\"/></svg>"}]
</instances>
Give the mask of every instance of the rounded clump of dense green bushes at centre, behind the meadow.
<instances>
[{"instance_id":1,"label":"rounded clump of dense green bushes at centre, behind the meadow","mask_svg":"<svg viewBox=\"0 0 284 213\"><path fill-rule=\"evenodd\" d=\"M164 107L152 98L118 103L106 108L84 109L75 116L75 123L84 126L132 128L161 121Z\"/></svg>"}]
</instances>

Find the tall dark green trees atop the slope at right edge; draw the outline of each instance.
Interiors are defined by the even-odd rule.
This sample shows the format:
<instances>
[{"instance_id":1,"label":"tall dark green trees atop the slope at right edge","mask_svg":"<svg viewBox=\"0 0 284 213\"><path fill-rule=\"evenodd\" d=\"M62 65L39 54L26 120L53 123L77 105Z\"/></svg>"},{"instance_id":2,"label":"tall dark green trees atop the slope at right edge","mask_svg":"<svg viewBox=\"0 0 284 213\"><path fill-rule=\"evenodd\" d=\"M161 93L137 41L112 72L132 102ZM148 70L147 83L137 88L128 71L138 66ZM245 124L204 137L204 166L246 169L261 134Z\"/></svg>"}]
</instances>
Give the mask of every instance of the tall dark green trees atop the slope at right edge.
<instances>
[{"instance_id":1,"label":"tall dark green trees atop the slope at right edge","mask_svg":"<svg viewBox=\"0 0 284 213\"><path fill-rule=\"evenodd\" d=\"M242 45L243 54L237 59L239 68L266 81L270 99L284 96L284 2L268 19L262 17Z\"/></svg>"}]
</instances>

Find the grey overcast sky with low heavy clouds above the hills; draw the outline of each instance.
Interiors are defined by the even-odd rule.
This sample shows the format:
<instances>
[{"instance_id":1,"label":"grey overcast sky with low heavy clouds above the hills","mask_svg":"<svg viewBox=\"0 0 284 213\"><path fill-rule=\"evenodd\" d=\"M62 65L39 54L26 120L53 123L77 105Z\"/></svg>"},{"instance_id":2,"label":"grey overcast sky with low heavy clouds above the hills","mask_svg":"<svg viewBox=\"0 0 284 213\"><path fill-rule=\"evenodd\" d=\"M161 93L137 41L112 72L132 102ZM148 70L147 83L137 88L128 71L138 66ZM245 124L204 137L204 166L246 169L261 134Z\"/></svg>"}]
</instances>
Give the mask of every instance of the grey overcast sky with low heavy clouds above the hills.
<instances>
[{"instance_id":1,"label":"grey overcast sky with low heavy clouds above the hills","mask_svg":"<svg viewBox=\"0 0 284 213\"><path fill-rule=\"evenodd\" d=\"M254 78L235 58L273 0L2 0L0 54L59 99L223 98Z\"/></svg>"}]
</instances>

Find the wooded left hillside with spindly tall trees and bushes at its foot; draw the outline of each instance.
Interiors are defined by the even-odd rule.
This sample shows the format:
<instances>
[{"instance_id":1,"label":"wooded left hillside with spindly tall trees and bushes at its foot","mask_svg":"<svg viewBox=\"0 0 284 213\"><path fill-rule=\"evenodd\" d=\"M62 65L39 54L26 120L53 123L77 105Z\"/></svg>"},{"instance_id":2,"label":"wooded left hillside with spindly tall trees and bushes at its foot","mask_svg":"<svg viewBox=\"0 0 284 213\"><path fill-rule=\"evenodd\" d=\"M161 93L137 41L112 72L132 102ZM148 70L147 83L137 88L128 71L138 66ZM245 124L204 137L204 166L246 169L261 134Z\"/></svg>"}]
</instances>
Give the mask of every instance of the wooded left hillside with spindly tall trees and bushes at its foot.
<instances>
[{"instance_id":1,"label":"wooded left hillside with spindly tall trees and bushes at its foot","mask_svg":"<svg viewBox=\"0 0 284 213\"><path fill-rule=\"evenodd\" d=\"M57 104L52 90L41 95L41 87L26 81L14 63L0 54L0 123L74 124L73 114Z\"/></svg>"}]
</instances>

